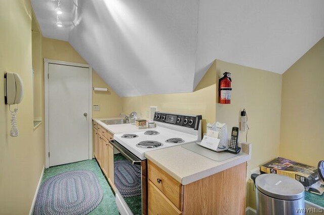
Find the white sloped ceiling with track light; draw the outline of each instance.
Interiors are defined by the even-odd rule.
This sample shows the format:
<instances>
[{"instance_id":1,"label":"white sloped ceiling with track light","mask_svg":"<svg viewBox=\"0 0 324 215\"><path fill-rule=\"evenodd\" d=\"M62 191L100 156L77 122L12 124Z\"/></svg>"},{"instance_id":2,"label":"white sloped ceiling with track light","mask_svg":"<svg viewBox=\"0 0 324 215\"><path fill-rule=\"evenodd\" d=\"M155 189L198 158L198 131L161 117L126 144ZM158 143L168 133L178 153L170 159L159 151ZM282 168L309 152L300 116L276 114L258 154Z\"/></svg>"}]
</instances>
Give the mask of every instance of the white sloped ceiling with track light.
<instances>
[{"instance_id":1,"label":"white sloped ceiling with track light","mask_svg":"<svg viewBox=\"0 0 324 215\"><path fill-rule=\"evenodd\" d=\"M31 2L119 96L191 92L215 59L282 74L324 36L322 0L62 0L62 28Z\"/></svg>"}]
</instances>

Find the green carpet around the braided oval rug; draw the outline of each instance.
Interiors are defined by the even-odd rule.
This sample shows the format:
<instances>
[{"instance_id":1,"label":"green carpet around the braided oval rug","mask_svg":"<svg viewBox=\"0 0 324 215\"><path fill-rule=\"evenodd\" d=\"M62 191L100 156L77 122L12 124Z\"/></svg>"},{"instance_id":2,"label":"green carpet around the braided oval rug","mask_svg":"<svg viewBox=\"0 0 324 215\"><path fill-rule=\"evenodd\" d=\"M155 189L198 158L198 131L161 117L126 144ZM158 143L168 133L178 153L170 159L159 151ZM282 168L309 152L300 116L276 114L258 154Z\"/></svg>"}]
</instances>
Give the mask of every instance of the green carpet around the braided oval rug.
<instances>
[{"instance_id":1,"label":"green carpet around the braided oval rug","mask_svg":"<svg viewBox=\"0 0 324 215\"><path fill-rule=\"evenodd\" d=\"M48 178L51 178L57 174L71 171L71 170L91 170L93 171L103 190L103 198L100 204L89 214L119 214L116 203L115 196L112 192L111 187L109 186L104 174L101 172L101 169L96 162L96 159L84 160L82 162L76 162L72 164L60 165L55 167L50 167L45 170L42 183L45 182Z\"/></svg>"}]
</instances>

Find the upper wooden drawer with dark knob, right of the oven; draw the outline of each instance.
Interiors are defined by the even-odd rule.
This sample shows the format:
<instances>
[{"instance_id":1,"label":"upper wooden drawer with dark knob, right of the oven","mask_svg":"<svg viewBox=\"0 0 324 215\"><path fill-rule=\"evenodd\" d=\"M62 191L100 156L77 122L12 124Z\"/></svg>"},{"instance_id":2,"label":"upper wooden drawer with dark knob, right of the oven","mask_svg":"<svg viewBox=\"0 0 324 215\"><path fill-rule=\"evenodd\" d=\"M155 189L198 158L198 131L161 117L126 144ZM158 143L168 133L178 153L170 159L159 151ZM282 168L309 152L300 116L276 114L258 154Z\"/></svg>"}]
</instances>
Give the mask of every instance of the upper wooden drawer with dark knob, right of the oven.
<instances>
[{"instance_id":1,"label":"upper wooden drawer with dark knob, right of the oven","mask_svg":"<svg viewBox=\"0 0 324 215\"><path fill-rule=\"evenodd\" d=\"M148 179L179 209L182 210L182 185L148 160Z\"/></svg>"}]
</instances>

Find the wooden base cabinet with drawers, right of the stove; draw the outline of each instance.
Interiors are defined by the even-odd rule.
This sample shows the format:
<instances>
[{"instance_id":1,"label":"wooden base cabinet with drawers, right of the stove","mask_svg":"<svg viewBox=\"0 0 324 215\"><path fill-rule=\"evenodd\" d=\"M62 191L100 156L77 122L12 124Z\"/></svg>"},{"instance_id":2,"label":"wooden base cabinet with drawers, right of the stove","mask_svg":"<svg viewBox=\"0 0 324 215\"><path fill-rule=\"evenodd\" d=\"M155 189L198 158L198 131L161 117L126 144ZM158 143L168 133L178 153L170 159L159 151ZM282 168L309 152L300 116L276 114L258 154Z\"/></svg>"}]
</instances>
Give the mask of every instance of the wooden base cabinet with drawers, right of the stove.
<instances>
[{"instance_id":1,"label":"wooden base cabinet with drawers, right of the stove","mask_svg":"<svg viewBox=\"0 0 324 215\"><path fill-rule=\"evenodd\" d=\"M246 165L181 185L148 160L148 214L245 214Z\"/></svg>"}]
</instances>

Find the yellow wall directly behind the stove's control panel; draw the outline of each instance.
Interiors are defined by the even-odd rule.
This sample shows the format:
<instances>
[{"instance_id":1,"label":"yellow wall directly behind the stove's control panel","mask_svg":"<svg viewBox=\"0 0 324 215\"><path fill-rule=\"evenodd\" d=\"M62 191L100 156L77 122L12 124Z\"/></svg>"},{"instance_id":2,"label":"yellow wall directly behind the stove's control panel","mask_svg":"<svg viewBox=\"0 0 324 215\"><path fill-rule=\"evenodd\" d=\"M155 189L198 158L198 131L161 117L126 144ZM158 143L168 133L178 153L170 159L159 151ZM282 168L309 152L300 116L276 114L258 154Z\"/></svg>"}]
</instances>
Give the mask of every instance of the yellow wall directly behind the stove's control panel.
<instances>
[{"instance_id":1,"label":"yellow wall directly behind the stove's control panel","mask_svg":"<svg viewBox=\"0 0 324 215\"><path fill-rule=\"evenodd\" d=\"M215 122L215 77L213 64L194 92L123 97L123 112L130 114L136 111L146 119L149 117L150 106L157 106L158 111L202 115L203 131L206 132L206 123Z\"/></svg>"}]
</instances>

